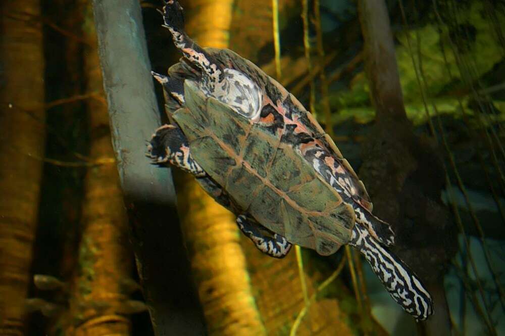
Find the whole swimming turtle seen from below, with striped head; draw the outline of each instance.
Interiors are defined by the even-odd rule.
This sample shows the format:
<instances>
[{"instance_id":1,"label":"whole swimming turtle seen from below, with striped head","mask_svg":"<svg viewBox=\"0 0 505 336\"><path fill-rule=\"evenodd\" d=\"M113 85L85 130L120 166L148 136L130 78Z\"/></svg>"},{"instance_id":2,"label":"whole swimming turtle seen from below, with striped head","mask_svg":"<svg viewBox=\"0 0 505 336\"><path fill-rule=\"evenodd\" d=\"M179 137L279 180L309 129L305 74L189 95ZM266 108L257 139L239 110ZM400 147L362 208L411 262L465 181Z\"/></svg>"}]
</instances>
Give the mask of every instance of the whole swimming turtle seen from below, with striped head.
<instances>
[{"instance_id":1,"label":"whole swimming turtle seen from below, with striped head","mask_svg":"<svg viewBox=\"0 0 505 336\"><path fill-rule=\"evenodd\" d=\"M433 314L422 281L387 248L389 224L372 214L363 182L311 113L254 63L200 47L176 0L159 12L183 57L166 75L152 72L170 124L148 141L151 162L191 173L263 253L282 258L296 244L328 256L347 244L406 312Z\"/></svg>"}]
</instances>

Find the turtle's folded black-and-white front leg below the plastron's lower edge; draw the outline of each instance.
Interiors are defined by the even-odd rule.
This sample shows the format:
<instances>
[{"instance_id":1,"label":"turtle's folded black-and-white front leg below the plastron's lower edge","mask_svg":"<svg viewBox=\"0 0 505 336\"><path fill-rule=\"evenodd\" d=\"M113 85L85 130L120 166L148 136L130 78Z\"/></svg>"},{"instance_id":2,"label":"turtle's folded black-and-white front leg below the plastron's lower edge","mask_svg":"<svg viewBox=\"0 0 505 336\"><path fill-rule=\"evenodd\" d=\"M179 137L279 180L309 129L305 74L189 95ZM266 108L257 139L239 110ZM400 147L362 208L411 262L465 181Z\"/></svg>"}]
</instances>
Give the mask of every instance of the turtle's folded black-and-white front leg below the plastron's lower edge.
<instances>
[{"instance_id":1,"label":"turtle's folded black-and-white front leg below the plastron's lower edge","mask_svg":"<svg viewBox=\"0 0 505 336\"><path fill-rule=\"evenodd\" d=\"M291 250L292 244L285 237L277 233L270 236L270 232L250 216L238 216L237 225L261 252L271 257L284 258Z\"/></svg>"}]
</instances>

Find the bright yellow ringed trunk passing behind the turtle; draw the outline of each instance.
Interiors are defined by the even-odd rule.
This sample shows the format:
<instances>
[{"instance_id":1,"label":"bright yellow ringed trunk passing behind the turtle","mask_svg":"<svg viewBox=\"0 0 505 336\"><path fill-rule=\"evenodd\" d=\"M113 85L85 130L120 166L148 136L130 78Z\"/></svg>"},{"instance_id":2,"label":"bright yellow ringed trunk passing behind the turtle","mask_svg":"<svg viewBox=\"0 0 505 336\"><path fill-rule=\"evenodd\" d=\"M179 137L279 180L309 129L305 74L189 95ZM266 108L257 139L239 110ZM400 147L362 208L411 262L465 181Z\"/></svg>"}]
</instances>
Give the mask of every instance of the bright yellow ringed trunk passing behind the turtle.
<instances>
[{"instance_id":1,"label":"bright yellow ringed trunk passing behind the turtle","mask_svg":"<svg viewBox=\"0 0 505 336\"><path fill-rule=\"evenodd\" d=\"M232 0L190 1L188 34L204 47L228 47L232 4ZM181 173L179 180L182 228L209 334L264 334L235 216L208 196L192 176Z\"/></svg>"}]
</instances>

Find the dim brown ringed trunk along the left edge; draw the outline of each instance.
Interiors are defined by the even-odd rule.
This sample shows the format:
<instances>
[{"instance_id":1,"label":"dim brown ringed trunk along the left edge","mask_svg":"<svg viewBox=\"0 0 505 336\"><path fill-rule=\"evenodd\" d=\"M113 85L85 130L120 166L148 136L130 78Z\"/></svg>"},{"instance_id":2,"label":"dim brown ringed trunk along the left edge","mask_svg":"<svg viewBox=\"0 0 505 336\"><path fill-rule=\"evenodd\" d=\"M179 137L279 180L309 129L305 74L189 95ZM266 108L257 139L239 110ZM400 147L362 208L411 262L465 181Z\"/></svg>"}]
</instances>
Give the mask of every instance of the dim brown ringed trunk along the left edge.
<instances>
[{"instance_id":1,"label":"dim brown ringed trunk along the left edge","mask_svg":"<svg viewBox=\"0 0 505 336\"><path fill-rule=\"evenodd\" d=\"M38 0L0 6L0 334L22 335L45 143L42 30Z\"/></svg>"}]
</instances>

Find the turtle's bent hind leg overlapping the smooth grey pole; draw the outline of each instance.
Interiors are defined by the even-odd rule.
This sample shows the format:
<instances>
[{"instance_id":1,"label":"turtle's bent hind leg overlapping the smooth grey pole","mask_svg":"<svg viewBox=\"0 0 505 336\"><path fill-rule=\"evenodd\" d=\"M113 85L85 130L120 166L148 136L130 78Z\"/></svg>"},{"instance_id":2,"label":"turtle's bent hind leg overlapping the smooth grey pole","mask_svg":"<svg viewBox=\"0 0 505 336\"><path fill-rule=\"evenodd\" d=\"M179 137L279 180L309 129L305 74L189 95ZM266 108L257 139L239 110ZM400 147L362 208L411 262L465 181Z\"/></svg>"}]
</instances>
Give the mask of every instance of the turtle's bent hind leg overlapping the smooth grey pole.
<instances>
[{"instance_id":1,"label":"turtle's bent hind leg overlapping the smooth grey pole","mask_svg":"<svg viewBox=\"0 0 505 336\"><path fill-rule=\"evenodd\" d=\"M169 163L196 177L207 175L194 161L186 136L175 125L163 125L156 130L147 146L147 155L154 163Z\"/></svg>"}]
</instances>

